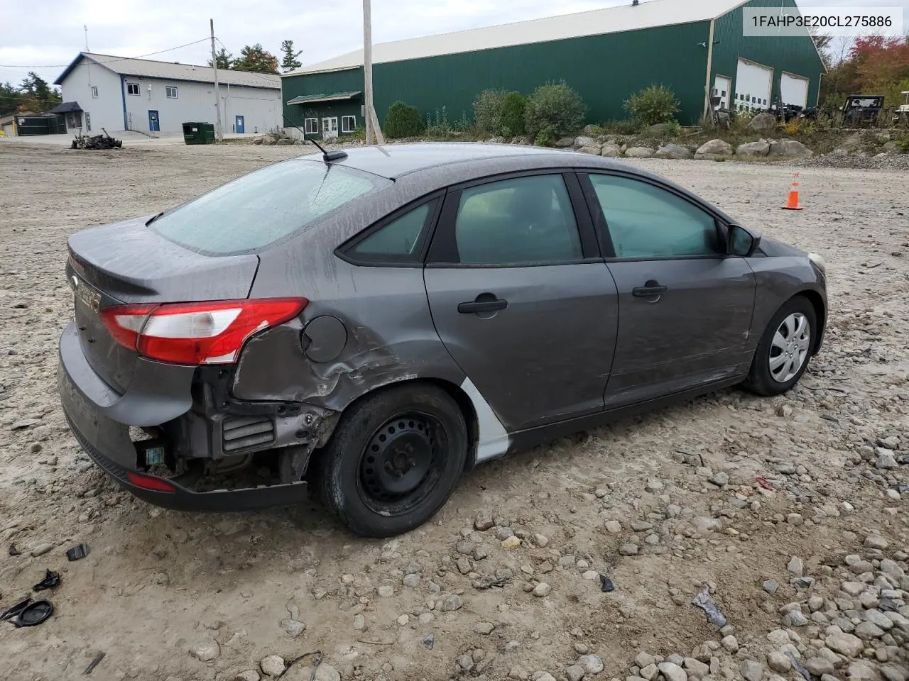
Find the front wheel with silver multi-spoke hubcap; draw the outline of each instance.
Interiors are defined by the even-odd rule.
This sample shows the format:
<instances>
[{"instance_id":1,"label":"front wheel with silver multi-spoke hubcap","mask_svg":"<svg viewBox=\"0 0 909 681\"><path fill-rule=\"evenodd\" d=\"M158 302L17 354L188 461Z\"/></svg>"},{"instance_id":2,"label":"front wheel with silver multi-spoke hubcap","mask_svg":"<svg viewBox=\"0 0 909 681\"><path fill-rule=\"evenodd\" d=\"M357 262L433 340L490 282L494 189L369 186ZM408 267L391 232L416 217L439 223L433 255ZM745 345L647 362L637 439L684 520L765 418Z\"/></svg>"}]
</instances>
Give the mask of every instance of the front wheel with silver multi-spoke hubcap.
<instances>
[{"instance_id":1,"label":"front wheel with silver multi-spoke hubcap","mask_svg":"<svg viewBox=\"0 0 909 681\"><path fill-rule=\"evenodd\" d=\"M817 315L811 302L802 296L786 302L757 344L745 387L768 396L790 390L808 367L816 332Z\"/></svg>"}]
</instances>

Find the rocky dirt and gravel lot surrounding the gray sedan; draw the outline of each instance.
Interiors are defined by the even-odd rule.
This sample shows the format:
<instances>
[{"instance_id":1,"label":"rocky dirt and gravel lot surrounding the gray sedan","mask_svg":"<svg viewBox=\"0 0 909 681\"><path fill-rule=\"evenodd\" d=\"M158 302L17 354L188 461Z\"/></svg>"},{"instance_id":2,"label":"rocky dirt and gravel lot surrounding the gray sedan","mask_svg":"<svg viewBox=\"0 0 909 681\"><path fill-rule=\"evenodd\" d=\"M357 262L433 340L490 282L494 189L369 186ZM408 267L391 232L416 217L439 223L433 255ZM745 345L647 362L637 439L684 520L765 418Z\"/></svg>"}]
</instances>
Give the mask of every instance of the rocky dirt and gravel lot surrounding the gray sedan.
<instances>
[{"instance_id":1,"label":"rocky dirt and gravel lot surrounding the gray sedan","mask_svg":"<svg viewBox=\"0 0 909 681\"><path fill-rule=\"evenodd\" d=\"M0 144L0 610L45 568L62 576L49 621L0 625L0 678L83 678L104 652L89 678L257 679L280 669L266 656L320 650L324 680L800 681L795 660L824 681L906 681L905 173L803 170L806 210L784 212L791 166L642 162L824 255L823 354L784 398L727 390L485 465L385 543L315 507L147 506L81 453L56 397L66 237L300 151ZM478 512L494 527L474 530ZM90 555L67 562L81 542ZM691 604L702 584L723 631ZM308 681L311 659L283 678Z\"/></svg>"}]
</instances>

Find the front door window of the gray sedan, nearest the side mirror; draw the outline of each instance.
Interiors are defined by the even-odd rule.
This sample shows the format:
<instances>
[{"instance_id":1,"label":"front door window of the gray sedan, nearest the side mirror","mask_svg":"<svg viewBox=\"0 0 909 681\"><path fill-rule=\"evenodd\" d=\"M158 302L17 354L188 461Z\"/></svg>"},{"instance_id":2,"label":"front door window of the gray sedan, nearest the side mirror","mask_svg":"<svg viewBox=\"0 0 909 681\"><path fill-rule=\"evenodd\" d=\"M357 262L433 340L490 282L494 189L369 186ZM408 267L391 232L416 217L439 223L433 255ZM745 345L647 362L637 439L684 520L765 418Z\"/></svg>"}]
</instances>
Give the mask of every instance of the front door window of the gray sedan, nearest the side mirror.
<instances>
[{"instance_id":1,"label":"front door window of the gray sedan, nearest the side mirror","mask_svg":"<svg viewBox=\"0 0 909 681\"><path fill-rule=\"evenodd\" d=\"M590 175L616 258L718 252L714 217L672 192L627 177Z\"/></svg>"}]
</instances>

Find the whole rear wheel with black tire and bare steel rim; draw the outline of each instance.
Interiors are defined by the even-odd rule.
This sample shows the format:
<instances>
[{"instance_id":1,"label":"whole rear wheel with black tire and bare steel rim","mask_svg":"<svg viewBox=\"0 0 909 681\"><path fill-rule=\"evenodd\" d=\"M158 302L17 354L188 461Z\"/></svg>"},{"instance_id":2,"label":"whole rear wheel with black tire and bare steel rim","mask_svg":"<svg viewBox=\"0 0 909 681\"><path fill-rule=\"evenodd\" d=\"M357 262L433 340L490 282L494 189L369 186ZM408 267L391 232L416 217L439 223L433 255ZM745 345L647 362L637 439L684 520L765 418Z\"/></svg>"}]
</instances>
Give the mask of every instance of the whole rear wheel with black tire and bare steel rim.
<instances>
[{"instance_id":1,"label":"whole rear wheel with black tire and bare steel rim","mask_svg":"<svg viewBox=\"0 0 909 681\"><path fill-rule=\"evenodd\" d=\"M467 444L464 414L445 390L423 383L380 390L345 410L319 453L315 485L356 534L394 537L442 508Z\"/></svg>"}]
</instances>

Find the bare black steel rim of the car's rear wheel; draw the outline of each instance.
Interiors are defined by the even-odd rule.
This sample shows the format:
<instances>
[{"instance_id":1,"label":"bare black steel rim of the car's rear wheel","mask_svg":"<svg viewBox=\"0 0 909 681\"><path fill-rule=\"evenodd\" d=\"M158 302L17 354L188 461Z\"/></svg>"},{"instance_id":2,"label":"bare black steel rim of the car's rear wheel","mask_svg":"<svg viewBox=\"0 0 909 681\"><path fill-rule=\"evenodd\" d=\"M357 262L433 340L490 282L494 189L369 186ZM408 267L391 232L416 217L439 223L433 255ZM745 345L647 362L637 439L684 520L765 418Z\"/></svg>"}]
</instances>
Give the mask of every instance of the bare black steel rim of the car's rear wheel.
<instances>
[{"instance_id":1,"label":"bare black steel rim of the car's rear wheel","mask_svg":"<svg viewBox=\"0 0 909 681\"><path fill-rule=\"evenodd\" d=\"M398 515L420 504L444 468L447 439L438 419L409 411L373 431L360 456L357 487L365 504Z\"/></svg>"}]
</instances>

